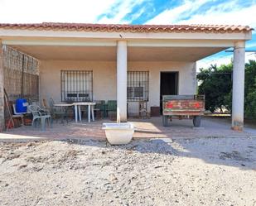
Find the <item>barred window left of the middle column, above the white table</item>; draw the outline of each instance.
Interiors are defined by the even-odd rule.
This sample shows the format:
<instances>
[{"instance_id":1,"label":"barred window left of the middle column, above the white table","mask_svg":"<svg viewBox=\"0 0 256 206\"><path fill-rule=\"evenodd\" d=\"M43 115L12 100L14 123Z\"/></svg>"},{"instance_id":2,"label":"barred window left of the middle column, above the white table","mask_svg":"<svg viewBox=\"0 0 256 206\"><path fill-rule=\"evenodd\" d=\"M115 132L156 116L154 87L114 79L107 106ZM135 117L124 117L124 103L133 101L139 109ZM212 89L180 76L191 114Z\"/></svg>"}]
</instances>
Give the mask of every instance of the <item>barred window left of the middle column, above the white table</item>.
<instances>
[{"instance_id":1,"label":"barred window left of the middle column, above the white table","mask_svg":"<svg viewBox=\"0 0 256 206\"><path fill-rule=\"evenodd\" d=\"M61 70L61 101L93 101L93 71Z\"/></svg>"}]
</instances>

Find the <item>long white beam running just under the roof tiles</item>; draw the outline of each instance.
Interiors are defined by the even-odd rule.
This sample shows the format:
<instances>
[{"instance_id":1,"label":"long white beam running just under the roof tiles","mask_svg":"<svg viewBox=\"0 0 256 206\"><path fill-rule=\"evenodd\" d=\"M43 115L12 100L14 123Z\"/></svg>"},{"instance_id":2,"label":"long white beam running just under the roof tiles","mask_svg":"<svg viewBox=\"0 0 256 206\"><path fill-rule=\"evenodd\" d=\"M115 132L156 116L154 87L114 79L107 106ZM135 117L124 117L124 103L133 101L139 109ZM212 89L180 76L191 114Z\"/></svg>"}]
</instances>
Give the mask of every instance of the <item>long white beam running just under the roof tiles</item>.
<instances>
[{"instance_id":1,"label":"long white beam running just under the roof tiles","mask_svg":"<svg viewBox=\"0 0 256 206\"><path fill-rule=\"evenodd\" d=\"M71 37L71 38L92 38L92 39L194 39L194 40L250 40L252 31L239 33L205 33L205 32L100 32L100 31L36 31L20 29L0 29L0 38L3 40L8 36L19 37Z\"/></svg>"}]
</instances>

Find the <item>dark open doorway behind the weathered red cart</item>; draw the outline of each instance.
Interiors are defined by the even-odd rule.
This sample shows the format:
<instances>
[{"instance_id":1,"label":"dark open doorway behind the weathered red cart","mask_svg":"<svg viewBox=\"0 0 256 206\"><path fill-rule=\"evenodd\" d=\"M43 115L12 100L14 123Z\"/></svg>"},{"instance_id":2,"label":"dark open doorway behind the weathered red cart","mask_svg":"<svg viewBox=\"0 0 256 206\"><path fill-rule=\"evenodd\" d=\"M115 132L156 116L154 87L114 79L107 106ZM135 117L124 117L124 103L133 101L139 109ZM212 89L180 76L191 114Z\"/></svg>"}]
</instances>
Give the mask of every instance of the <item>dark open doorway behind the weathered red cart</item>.
<instances>
[{"instance_id":1,"label":"dark open doorway behind the weathered red cart","mask_svg":"<svg viewBox=\"0 0 256 206\"><path fill-rule=\"evenodd\" d=\"M162 95L178 93L178 72L160 73L160 113L162 114Z\"/></svg>"}]
</instances>

